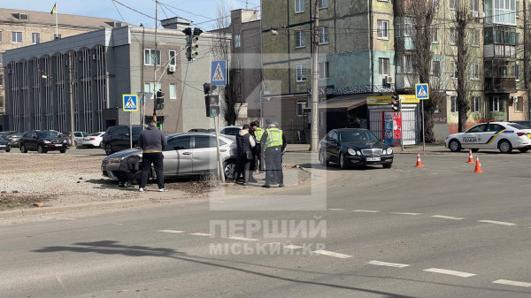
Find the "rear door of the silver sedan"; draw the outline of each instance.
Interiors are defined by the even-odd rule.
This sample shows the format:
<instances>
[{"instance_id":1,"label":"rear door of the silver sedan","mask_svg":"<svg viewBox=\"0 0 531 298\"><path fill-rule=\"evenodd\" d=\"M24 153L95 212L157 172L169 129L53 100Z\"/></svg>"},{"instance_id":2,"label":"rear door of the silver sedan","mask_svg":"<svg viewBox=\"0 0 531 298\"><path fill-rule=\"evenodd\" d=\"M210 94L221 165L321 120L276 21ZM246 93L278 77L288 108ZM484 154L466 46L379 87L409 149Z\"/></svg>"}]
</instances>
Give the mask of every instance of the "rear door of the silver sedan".
<instances>
[{"instance_id":1,"label":"rear door of the silver sedan","mask_svg":"<svg viewBox=\"0 0 531 298\"><path fill-rule=\"evenodd\" d=\"M221 142L221 140L219 140ZM226 148L219 149L225 150ZM224 152L225 152L224 151ZM222 153L222 152L220 152ZM195 174L216 172L217 169L216 138L212 135L194 135L192 167Z\"/></svg>"}]
</instances>

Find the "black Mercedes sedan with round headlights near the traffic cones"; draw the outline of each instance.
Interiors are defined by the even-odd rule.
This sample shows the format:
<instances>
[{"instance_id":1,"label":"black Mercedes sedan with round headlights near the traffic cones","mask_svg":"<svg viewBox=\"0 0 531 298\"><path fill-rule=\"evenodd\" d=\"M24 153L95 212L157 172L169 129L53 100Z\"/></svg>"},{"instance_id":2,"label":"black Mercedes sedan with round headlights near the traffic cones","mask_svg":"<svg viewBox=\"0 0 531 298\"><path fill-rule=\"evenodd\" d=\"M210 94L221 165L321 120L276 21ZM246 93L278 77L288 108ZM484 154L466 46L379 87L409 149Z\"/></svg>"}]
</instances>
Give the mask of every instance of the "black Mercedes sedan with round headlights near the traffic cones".
<instances>
[{"instance_id":1,"label":"black Mercedes sedan with round headlights near the traffic cones","mask_svg":"<svg viewBox=\"0 0 531 298\"><path fill-rule=\"evenodd\" d=\"M393 157L393 149L367 129L333 129L319 142L321 165L333 162L347 169L354 165L381 164L390 169Z\"/></svg>"}]
</instances>

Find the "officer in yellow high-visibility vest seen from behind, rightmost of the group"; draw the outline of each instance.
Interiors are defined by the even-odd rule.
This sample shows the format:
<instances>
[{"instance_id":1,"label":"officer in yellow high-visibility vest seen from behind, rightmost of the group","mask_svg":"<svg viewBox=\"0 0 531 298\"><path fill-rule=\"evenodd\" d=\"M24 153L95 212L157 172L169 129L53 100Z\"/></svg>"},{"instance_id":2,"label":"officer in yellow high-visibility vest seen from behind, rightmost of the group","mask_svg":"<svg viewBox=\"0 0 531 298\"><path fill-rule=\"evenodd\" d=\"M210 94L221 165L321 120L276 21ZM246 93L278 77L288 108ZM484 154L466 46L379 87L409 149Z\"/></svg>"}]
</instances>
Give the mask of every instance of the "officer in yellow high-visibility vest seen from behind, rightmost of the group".
<instances>
[{"instance_id":1,"label":"officer in yellow high-visibility vest seen from behind, rightmost of the group","mask_svg":"<svg viewBox=\"0 0 531 298\"><path fill-rule=\"evenodd\" d=\"M282 152L286 149L286 136L276 127L271 120L266 120L267 129L260 138L264 159L266 161L266 184L262 187L271 187L278 184L284 187L284 174L282 172Z\"/></svg>"}]
</instances>

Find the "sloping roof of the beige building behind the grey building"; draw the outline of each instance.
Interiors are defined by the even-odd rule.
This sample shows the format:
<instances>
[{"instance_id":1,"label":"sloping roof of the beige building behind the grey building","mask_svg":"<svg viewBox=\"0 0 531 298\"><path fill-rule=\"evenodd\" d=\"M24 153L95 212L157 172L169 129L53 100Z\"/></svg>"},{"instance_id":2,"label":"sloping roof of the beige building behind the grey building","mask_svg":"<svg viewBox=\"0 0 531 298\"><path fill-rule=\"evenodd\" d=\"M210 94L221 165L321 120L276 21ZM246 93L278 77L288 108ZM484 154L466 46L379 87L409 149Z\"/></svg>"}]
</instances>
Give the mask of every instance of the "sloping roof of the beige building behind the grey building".
<instances>
[{"instance_id":1,"label":"sloping roof of the beige building behind the grey building","mask_svg":"<svg viewBox=\"0 0 531 298\"><path fill-rule=\"evenodd\" d=\"M51 10L51 9L50 9ZM28 19L18 19L18 13L26 13ZM119 22L115 19L94 18L86 16L78 16L72 14L58 13L59 27L78 27L78 28L102 28L114 27L114 22ZM23 11L16 9L0 8L0 24L39 24L50 25L55 27L56 17L50 11ZM124 24L126 25L126 24Z\"/></svg>"}]
</instances>

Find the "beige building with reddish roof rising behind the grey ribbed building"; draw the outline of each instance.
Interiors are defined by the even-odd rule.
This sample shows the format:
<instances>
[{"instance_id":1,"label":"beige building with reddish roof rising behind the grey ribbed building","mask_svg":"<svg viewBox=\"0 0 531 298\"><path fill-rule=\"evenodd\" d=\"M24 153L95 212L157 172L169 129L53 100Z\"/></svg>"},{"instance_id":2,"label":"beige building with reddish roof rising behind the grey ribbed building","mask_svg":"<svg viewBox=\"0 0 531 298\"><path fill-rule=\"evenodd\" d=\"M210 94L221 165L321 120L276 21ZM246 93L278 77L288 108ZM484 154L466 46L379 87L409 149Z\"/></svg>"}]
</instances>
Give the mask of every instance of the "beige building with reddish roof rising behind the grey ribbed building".
<instances>
[{"instance_id":1,"label":"beige building with reddish roof rising behind the grey ribbed building","mask_svg":"<svg viewBox=\"0 0 531 298\"><path fill-rule=\"evenodd\" d=\"M0 8L0 114L5 112L3 52L102 27L119 27L121 23L113 19L60 14L57 25L56 16L50 12ZM5 124L0 123L0 130L2 126Z\"/></svg>"}]
</instances>

